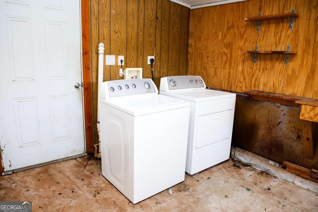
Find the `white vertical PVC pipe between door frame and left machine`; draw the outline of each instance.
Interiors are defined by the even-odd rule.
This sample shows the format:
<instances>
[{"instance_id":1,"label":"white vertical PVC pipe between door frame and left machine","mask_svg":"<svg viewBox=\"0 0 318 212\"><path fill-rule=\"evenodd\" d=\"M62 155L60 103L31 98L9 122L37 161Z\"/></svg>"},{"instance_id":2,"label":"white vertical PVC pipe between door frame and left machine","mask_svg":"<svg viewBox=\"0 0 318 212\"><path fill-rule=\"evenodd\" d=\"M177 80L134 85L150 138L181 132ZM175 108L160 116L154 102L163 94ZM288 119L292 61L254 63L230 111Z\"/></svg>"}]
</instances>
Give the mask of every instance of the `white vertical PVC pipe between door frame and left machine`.
<instances>
[{"instance_id":1,"label":"white vertical PVC pipe between door frame and left machine","mask_svg":"<svg viewBox=\"0 0 318 212\"><path fill-rule=\"evenodd\" d=\"M100 127L99 127L99 95L100 95L100 84L103 82L103 71L104 71L104 44L98 44L98 79L97 79L97 133L98 133L98 154L97 157L101 157L100 151Z\"/></svg>"}]
</instances>

